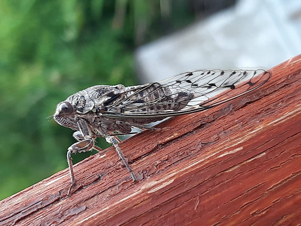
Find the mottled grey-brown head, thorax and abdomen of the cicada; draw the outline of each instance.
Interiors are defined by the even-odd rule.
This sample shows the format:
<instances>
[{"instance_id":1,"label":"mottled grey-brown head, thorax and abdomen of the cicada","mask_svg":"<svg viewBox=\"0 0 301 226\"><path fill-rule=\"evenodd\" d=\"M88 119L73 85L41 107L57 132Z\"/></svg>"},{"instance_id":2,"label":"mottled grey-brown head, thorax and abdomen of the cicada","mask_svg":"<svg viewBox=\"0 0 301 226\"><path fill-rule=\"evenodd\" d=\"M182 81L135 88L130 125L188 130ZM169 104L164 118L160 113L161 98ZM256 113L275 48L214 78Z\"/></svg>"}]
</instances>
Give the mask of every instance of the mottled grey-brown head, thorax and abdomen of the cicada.
<instances>
[{"instance_id":1,"label":"mottled grey-brown head, thorax and abdomen of the cicada","mask_svg":"<svg viewBox=\"0 0 301 226\"><path fill-rule=\"evenodd\" d=\"M178 98L172 99L170 89L161 87L160 84L143 87L143 89L141 89L142 87L143 86L125 87L123 85L98 85L89 87L66 99L66 101L73 106L74 110L71 113L57 111L54 115L54 119L62 126L77 131L80 129L76 121L79 118L85 119L91 126L93 137L107 137L109 136L109 132L113 133L118 131L120 133L130 133L133 124L145 125L160 121L166 117L112 119L103 116L103 112L115 111L123 113L128 109L132 109L132 112L177 111L182 109L185 104L193 98L192 94L181 92L177 94L176 97ZM161 104L153 103L163 95L164 98L161 98ZM143 100L139 100L139 98L143 98ZM147 107L137 108L138 105L147 102L149 103Z\"/></svg>"}]
</instances>

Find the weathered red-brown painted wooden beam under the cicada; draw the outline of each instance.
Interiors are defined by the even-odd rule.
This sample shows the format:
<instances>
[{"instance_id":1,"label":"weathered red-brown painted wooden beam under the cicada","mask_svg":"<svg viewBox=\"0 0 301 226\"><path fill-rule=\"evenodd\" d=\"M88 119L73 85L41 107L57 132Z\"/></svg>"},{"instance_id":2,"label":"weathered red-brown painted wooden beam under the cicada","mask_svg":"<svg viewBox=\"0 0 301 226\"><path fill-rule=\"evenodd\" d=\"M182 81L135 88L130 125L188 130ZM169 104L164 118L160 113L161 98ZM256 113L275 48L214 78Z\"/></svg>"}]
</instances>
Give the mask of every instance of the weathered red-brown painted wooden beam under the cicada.
<instances>
[{"instance_id":1,"label":"weathered red-brown painted wooden beam under the cicada","mask_svg":"<svg viewBox=\"0 0 301 226\"><path fill-rule=\"evenodd\" d=\"M301 223L301 55L224 105L178 116L0 202L0 225Z\"/></svg>"}]
</instances>

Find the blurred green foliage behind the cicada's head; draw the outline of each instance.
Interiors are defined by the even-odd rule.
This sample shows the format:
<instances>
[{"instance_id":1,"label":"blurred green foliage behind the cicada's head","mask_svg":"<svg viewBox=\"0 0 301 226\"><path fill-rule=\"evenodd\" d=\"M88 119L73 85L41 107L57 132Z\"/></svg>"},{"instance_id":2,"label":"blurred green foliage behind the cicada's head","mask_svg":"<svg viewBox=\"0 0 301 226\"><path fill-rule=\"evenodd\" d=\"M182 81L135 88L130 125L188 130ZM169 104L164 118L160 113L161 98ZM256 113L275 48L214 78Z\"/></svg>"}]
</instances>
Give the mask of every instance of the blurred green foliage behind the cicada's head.
<instances>
[{"instance_id":1,"label":"blurred green foliage behind the cicada's head","mask_svg":"<svg viewBox=\"0 0 301 226\"><path fill-rule=\"evenodd\" d=\"M1 1L0 199L67 167L73 131L46 119L57 103L92 85L137 83L135 47L193 20L186 1L166 2Z\"/></svg>"}]
</instances>

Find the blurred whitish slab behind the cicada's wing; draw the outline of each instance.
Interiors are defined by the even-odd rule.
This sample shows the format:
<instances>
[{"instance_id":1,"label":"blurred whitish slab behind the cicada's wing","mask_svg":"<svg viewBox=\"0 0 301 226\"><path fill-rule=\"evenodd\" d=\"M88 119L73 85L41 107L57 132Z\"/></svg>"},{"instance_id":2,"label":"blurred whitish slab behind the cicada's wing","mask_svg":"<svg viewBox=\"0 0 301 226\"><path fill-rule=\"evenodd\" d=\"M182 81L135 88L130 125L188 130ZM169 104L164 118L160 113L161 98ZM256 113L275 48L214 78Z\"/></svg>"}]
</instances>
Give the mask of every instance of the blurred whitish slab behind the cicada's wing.
<instances>
[{"instance_id":1,"label":"blurred whitish slab behind the cicada's wing","mask_svg":"<svg viewBox=\"0 0 301 226\"><path fill-rule=\"evenodd\" d=\"M136 51L141 83L199 68L273 67L301 53L300 0L240 0Z\"/></svg>"}]
</instances>

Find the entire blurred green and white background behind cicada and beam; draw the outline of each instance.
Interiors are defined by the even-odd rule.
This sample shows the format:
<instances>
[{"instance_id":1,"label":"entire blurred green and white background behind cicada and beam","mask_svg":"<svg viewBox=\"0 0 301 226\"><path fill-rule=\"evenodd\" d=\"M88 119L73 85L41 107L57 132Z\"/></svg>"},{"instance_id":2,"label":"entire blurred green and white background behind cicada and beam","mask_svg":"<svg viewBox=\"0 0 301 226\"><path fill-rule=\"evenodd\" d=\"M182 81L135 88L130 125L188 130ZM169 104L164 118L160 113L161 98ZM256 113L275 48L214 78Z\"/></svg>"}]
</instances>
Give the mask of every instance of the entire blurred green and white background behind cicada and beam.
<instances>
[{"instance_id":1,"label":"entire blurred green and white background behind cicada and beam","mask_svg":"<svg viewBox=\"0 0 301 226\"><path fill-rule=\"evenodd\" d=\"M73 131L46 118L79 90L300 52L299 0L2 0L0 200L67 168Z\"/></svg>"}]
</instances>

